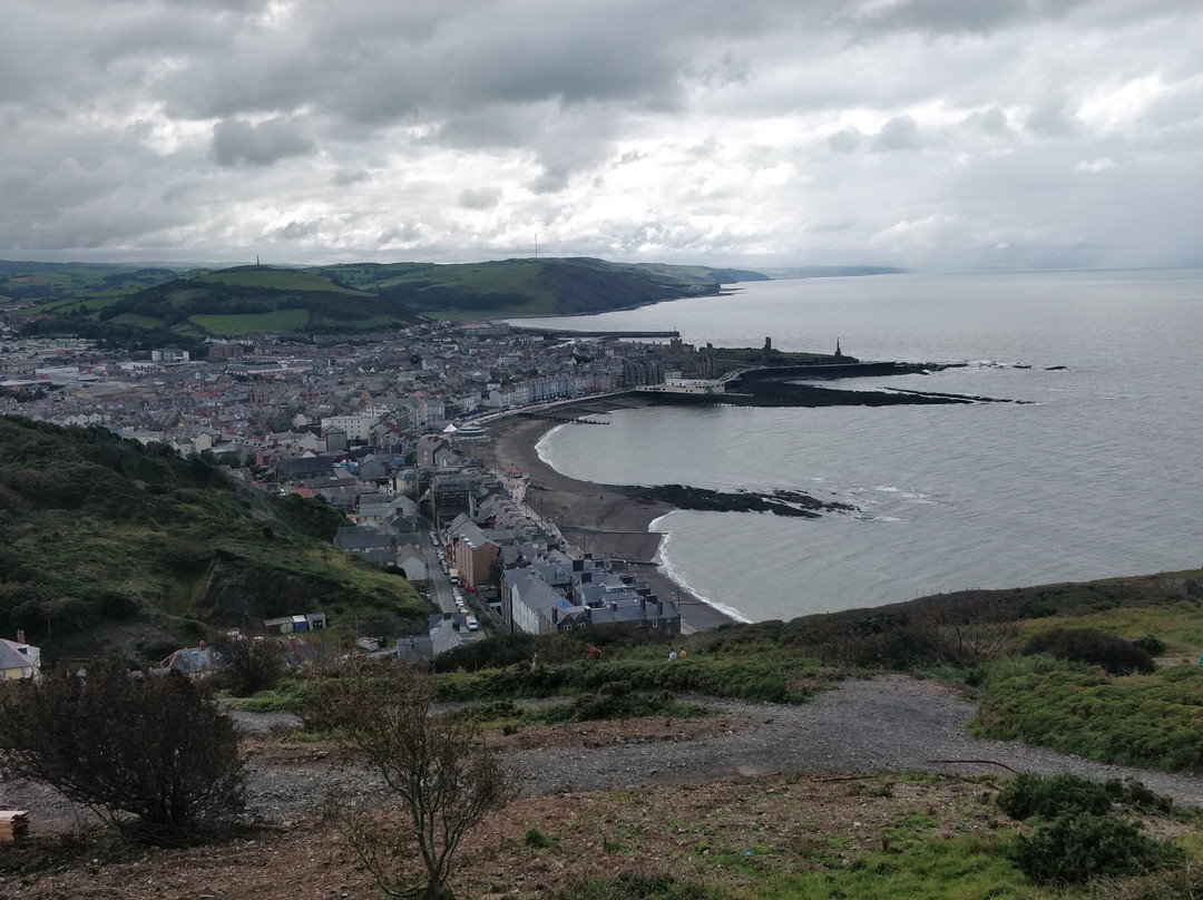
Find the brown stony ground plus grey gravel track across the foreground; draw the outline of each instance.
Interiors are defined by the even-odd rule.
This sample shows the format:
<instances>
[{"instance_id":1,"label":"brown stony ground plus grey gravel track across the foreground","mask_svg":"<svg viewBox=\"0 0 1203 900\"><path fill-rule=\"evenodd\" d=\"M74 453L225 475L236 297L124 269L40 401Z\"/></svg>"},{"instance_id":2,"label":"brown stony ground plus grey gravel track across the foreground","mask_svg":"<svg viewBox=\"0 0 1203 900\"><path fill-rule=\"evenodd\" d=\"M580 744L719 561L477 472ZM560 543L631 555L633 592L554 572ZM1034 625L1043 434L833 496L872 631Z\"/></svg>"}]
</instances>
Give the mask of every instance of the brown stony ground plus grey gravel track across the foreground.
<instances>
[{"instance_id":1,"label":"brown stony ground plus grey gravel track across the foreground","mask_svg":"<svg viewBox=\"0 0 1203 900\"><path fill-rule=\"evenodd\" d=\"M549 895L617 871L737 882L879 847L912 828L989 837L1003 766L1132 775L1203 806L1201 777L972 739L971 711L944 686L890 676L846 681L802 706L724 703L695 721L523 729L499 739L523 797L469 836L460 893ZM75 811L54 794L0 783L0 805L29 809L36 835L0 846L0 898L379 896L314 806L334 783L368 803L383 799L380 786L339 771L328 747L280 738L286 727L279 715L244 717L251 805L263 824L215 847L147 851L79 836ZM531 828L551 845L527 846Z\"/></svg>"}]
</instances>

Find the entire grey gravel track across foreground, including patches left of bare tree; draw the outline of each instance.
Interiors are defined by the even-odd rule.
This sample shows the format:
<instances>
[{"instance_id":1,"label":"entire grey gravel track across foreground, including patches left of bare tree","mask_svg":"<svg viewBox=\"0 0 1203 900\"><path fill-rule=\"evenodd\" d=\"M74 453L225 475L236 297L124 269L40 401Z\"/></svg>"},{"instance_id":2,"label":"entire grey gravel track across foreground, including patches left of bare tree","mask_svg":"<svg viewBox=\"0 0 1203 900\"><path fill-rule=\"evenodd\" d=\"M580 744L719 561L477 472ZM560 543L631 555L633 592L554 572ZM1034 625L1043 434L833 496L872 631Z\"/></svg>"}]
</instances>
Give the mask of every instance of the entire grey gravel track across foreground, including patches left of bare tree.
<instances>
[{"instance_id":1,"label":"entire grey gravel track across foreground, including patches left of bare tree","mask_svg":"<svg viewBox=\"0 0 1203 900\"><path fill-rule=\"evenodd\" d=\"M973 711L956 691L906 676L848 680L799 706L712 701L721 714L687 728L653 721L562 726L506 745L528 797L608 788L701 783L771 772L822 774L928 769L955 775L1008 772L991 763L1042 774L1090 778L1134 777L1177 803L1203 806L1203 776L1104 765L1014 741L971 738ZM235 714L249 734L296 723L290 714ZM520 735L521 736L521 735ZM525 746L531 742L537 746ZM271 818L314 809L327 787L383 797L365 771L342 771L327 748L292 745L285 757L253 753L250 806ZM949 763L941 760L978 760ZM989 760L989 762L985 762ZM28 782L0 782L0 806L28 809L34 830L59 830L87 819L60 795Z\"/></svg>"}]
</instances>

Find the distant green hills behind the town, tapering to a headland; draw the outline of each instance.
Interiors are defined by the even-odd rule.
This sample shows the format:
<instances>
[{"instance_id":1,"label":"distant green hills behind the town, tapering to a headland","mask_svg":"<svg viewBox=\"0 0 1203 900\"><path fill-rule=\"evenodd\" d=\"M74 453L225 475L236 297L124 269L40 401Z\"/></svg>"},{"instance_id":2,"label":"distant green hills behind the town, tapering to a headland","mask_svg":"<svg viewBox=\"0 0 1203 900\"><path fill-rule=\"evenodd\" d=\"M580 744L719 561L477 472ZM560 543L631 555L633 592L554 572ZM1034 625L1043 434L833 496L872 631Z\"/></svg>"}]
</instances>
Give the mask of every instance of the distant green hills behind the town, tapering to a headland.
<instances>
[{"instance_id":1,"label":"distant green hills behind the town, tapering to a headland","mask_svg":"<svg viewBox=\"0 0 1203 900\"><path fill-rule=\"evenodd\" d=\"M238 266L214 272L25 264L8 296L26 302L26 333L72 333L124 344L185 347L262 332L395 330L420 316L480 319L595 313L717 294L757 272L626 265L594 259L434 265L354 264L307 270ZM61 271L60 271L61 270ZM0 274L5 274L0 270Z\"/></svg>"}]
</instances>

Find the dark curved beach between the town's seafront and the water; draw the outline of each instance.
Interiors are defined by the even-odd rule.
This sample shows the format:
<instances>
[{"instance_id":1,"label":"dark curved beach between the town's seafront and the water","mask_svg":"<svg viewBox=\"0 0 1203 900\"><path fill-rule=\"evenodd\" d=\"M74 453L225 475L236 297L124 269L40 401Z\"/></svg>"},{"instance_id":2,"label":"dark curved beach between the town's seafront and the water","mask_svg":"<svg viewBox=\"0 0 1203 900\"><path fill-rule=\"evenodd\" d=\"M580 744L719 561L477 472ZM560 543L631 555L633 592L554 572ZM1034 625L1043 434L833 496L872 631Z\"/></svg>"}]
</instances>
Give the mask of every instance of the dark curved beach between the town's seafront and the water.
<instances>
[{"instance_id":1,"label":"dark curved beach between the town's seafront and the water","mask_svg":"<svg viewBox=\"0 0 1203 900\"><path fill-rule=\"evenodd\" d=\"M617 405L634 405L638 399L582 401L571 407L557 407L558 416L602 414ZM557 422L545 419L509 416L487 425L490 442L481 450L497 472L514 467L527 473L526 502L537 514L555 522L564 538L591 553L627 561L628 570L641 578L660 599L676 600L681 610L681 630L686 634L731 622L728 615L682 590L652 561L659 550L660 535L647 526L672 507L635 499L621 487L579 481L559 474L539 458L535 444ZM587 427L587 426L573 426Z\"/></svg>"}]
</instances>

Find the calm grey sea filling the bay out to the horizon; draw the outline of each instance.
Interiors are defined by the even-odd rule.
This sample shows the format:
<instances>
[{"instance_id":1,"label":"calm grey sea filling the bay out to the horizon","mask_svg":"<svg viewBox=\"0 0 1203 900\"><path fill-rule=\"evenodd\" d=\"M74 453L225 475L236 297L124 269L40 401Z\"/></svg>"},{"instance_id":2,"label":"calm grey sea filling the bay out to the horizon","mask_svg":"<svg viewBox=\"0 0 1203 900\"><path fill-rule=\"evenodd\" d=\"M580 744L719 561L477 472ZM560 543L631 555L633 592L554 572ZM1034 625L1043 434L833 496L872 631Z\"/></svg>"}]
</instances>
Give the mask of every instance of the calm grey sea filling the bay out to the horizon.
<instances>
[{"instance_id":1,"label":"calm grey sea filling the bay out to the horizon","mask_svg":"<svg viewBox=\"0 0 1203 900\"><path fill-rule=\"evenodd\" d=\"M593 316L683 341L966 363L829 383L992 397L915 407L646 407L539 455L608 484L784 489L817 520L674 511L660 562L742 621L1203 567L1203 271L907 273L730 285Z\"/></svg>"}]
</instances>

